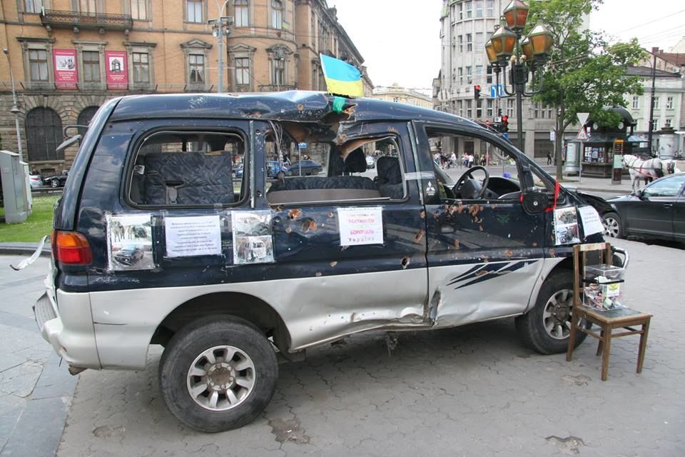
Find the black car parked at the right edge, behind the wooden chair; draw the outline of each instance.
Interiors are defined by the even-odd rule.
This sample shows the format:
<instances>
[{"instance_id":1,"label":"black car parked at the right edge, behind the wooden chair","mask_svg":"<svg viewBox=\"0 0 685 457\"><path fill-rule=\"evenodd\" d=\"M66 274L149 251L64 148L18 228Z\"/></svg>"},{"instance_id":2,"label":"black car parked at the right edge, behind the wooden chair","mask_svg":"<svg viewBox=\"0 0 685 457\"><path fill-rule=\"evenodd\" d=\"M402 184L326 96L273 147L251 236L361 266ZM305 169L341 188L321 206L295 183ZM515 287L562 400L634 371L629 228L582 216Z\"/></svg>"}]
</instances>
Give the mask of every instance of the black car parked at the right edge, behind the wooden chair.
<instances>
[{"instance_id":1,"label":"black car parked at the right edge, behind the wooden chair","mask_svg":"<svg viewBox=\"0 0 685 457\"><path fill-rule=\"evenodd\" d=\"M579 195L594 206L604 220L604 235L685 241L685 173L657 179L634 194L605 201Z\"/></svg>"}]
</instances>

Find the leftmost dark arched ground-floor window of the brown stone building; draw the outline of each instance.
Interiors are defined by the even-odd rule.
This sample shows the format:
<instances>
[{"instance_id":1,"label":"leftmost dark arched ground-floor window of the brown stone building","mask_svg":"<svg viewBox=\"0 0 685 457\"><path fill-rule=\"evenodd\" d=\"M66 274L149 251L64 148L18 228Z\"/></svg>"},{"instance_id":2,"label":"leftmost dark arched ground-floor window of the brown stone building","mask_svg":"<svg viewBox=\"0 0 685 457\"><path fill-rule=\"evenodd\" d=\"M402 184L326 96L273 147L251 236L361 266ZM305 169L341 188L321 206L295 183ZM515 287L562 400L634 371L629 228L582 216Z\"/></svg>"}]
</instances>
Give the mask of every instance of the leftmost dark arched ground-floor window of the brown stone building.
<instances>
[{"instance_id":1,"label":"leftmost dark arched ground-floor window of the brown stone building","mask_svg":"<svg viewBox=\"0 0 685 457\"><path fill-rule=\"evenodd\" d=\"M62 120L54 110L40 107L26 114L29 161L64 160L64 152L56 151L63 139Z\"/></svg>"}]
</instances>

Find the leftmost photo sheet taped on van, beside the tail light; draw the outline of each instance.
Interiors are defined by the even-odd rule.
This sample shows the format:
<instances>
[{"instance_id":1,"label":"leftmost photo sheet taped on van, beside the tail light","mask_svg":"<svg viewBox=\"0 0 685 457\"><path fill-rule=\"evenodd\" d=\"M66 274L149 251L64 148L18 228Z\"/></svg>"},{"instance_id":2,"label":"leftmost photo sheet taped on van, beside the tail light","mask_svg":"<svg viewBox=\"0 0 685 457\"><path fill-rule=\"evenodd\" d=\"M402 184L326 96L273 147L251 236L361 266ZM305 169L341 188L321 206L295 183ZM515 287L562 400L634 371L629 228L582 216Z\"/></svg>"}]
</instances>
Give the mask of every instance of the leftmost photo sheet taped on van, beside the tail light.
<instances>
[{"instance_id":1,"label":"leftmost photo sheet taped on van, beside the tail light","mask_svg":"<svg viewBox=\"0 0 685 457\"><path fill-rule=\"evenodd\" d=\"M108 216L109 269L113 271L155 268L152 224L149 214Z\"/></svg>"}]
</instances>

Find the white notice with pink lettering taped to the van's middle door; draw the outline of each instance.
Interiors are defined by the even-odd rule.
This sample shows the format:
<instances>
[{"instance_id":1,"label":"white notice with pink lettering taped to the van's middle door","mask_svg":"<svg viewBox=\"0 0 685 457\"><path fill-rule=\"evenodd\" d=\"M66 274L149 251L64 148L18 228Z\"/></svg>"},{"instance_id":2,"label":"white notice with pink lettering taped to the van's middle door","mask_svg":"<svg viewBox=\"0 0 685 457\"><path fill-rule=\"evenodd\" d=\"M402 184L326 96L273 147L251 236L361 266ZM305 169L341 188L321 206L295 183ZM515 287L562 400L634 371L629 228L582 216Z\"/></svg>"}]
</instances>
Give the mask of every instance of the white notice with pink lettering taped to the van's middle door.
<instances>
[{"instance_id":1,"label":"white notice with pink lettering taped to the van's middle door","mask_svg":"<svg viewBox=\"0 0 685 457\"><path fill-rule=\"evenodd\" d=\"M383 209L338 208L340 246L383 243Z\"/></svg>"}]
</instances>

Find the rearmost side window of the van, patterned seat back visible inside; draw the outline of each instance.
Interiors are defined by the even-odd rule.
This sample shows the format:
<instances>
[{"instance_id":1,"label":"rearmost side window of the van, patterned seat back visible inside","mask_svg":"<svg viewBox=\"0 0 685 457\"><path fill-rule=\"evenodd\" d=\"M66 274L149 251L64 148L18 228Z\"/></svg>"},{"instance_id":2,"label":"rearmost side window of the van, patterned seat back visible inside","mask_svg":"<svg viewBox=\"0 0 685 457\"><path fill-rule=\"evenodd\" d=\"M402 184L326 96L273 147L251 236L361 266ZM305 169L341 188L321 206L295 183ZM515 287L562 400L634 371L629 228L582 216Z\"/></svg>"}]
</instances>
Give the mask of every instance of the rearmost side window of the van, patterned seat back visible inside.
<instances>
[{"instance_id":1,"label":"rearmost side window of the van, patterned seat back visible inside","mask_svg":"<svg viewBox=\"0 0 685 457\"><path fill-rule=\"evenodd\" d=\"M128 197L145 206L225 206L247 189L245 144L238 134L166 131L138 147Z\"/></svg>"}]
</instances>

